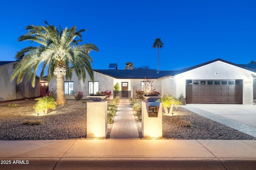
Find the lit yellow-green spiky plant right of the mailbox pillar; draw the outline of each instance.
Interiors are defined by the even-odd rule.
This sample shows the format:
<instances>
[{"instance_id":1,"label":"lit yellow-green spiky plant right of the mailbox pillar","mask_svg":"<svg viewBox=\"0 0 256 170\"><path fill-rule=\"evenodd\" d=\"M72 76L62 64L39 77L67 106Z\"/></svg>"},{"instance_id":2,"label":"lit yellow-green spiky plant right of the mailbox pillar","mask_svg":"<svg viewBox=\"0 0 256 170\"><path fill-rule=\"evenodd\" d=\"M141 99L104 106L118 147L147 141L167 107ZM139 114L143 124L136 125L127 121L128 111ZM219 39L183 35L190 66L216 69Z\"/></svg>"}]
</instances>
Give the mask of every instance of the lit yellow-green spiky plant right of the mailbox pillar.
<instances>
[{"instance_id":1,"label":"lit yellow-green spiky plant right of the mailbox pillar","mask_svg":"<svg viewBox=\"0 0 256 170\"><path fill-rule=\"evenodd\" d=\"M170 94L165 94L159 99L160 102L163 104L164 112L166 114L172 113L173 106L177 108L177 106L182 105L180 100L174 98L174 96ZM168 111L169 110L169 111Z\"/></svg>"}]
</instances>

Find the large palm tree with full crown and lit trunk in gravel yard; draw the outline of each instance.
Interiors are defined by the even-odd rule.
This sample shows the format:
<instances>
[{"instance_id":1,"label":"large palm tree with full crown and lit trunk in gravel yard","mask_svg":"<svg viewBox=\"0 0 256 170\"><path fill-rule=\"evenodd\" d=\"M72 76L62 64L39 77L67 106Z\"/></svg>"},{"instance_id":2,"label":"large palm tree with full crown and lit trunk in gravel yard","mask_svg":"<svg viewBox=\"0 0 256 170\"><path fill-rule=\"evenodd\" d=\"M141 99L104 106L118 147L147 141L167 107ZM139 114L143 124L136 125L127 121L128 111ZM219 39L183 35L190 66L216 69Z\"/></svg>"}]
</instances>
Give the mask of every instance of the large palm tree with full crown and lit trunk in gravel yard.
<instances>
[{"instance_id":1,"label":"large palm tree with full crown and lit trunk in gravel yard","mask_svg":"<svg viewBox=\"0 0 256 170\"><path fill-rule=\"evenodd\" d=\"M36 71L38 66L42 64L40 80L43 78L46 69L48 71L48 82L56 76L56 103L57 105L63 105L66 104L64 76L70 80L72 71L74 71L78 80L82 79L85 82L87 72L91 81L94 81L91 66L92 58L89 56L89 51L98 51L98 48L90 43L78 45L78 42L82 41L81 33L86 29L76 31L75 26L70 29L67 27L58 29L54 25L48 25L47 21L45 23L46 27L43 25L26 26L28 32L18 38L19 42L31 40L33 43L35 41L38 46L25 47L17 52L15 58L20 62L16 64L11 80L17 77L17 83L20 83L24 75L27 74L34 87ZM79 39L75 40L76 37L79 37Z\"/></svg>"}]
</instances>

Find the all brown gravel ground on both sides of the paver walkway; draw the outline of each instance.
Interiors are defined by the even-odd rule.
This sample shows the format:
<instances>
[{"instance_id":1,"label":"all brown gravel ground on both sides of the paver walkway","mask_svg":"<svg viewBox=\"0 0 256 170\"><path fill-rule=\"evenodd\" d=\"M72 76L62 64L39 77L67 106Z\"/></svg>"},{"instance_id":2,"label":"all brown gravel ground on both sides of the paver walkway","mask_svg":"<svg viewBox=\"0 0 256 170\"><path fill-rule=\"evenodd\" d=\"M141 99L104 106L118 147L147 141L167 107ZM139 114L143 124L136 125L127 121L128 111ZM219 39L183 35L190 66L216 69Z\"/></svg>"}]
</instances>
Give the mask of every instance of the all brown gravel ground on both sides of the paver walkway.
<instances>
[{"instance_id":1,"label":"all brown gravel ground on both sides of the paver walkway","mask_svg":"<svg viewBox=\"0 0 256 170\"><path fill-rule=\"evenodd\" d=\"M13 103L19 107L7 107ZM37 115L33 109L35 104L33 99L0 103L0 140L91 139L86 138L86 103L67 100L65 106L57 106L47 115ZM256 139L182 107L174 108L173 112L173 116L163 115L161 139ZM182 123L178 125L177 122ZM142 136L141 122L136 123L140 138L147 139ZM108 124L106 139L111 129L112 124Z\"/></svg>"}]
</instances>

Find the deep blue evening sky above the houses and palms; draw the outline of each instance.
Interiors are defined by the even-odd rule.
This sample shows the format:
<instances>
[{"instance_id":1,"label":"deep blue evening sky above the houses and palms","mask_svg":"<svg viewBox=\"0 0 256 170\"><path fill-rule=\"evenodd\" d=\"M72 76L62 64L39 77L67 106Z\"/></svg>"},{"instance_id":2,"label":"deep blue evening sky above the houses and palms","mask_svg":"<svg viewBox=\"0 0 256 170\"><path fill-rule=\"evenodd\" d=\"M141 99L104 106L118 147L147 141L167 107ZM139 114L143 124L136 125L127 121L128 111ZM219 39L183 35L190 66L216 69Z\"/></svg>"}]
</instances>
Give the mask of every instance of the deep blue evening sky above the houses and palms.
<instances>
[{"instance_id":1,"label":"deep blue evening sky above the houses and palms","mask_svg":"<svg viewBox=\"0 0 256 170\"><path fill-rule=\"evenodd\" d=\"M180 70L221 58L236 64L256 61L255 0L94 0L4 1L0 5L0 61L13 61L17 51L30 45L19 42L26 25L49 24L87 29L82 43L94 43L94 69L118 63L123 69Z\"/></svg>"}]
</instances>

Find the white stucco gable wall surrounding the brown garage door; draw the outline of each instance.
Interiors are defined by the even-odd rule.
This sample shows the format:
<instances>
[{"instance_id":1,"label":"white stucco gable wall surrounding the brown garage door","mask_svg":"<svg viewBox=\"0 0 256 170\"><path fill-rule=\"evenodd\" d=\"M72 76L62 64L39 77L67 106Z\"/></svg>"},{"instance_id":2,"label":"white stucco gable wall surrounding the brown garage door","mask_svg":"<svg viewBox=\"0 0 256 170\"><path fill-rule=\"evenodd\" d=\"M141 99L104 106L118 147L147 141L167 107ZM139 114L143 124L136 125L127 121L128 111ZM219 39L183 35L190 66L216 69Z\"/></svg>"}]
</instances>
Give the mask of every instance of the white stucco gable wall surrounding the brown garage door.
<instances>
[{"instance_id":1,"label":"white stucco gable wall surrounding the brown garage door","mask_svg":"<svg viewBox=\"0 0 256 170\"><path fill-rule=\"evenodd\" d=\"M222 61L216 61L178 74L172 78L175 78L176 81L176 97L181 93L185 96L186 80L243 80L243 104L253 104L252 74L255 73ZM168 80L164 81L168 82Z\"/></svg>"}]
</instances>

